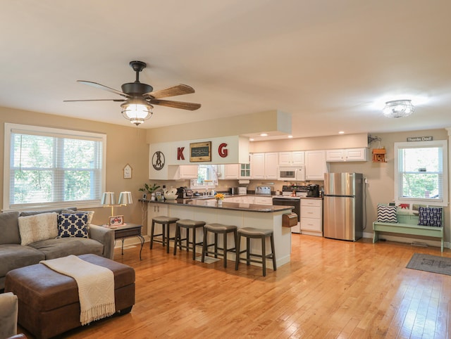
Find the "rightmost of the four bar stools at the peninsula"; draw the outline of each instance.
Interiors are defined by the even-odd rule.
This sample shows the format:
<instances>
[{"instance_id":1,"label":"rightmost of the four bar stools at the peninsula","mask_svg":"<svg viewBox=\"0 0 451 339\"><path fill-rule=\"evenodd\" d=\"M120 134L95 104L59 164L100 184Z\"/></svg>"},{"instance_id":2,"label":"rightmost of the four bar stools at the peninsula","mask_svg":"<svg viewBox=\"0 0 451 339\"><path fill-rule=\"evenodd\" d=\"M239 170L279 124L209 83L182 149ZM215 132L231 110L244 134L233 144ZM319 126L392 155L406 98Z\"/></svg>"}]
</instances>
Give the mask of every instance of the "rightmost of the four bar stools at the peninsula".
<instances>
[{"instance_id":1,"label":"rightmost of the four bar stools at the peninsula","mask_svg":"<svg viewBox=\"0 0 451 339\"><path fill-rule=\"evenodd\" d=\"M240 241L241 237L246 238L246 249L240 251ZM269 236L271 240L271 253L266 254L266 237ZM250 240L251 238L261 239L261 255L251 253ZM246 257L241 258L241 253L246 252ZM259 257L260 260L251 259L251 257ZM273 260L273 270L276 271L276 252L274 250L274 233L272 229L254 229L253 227L244 227L239 229L237 232L237 255L235 260L235 271L238 269L238 264L240 260L246 260L246 264L250 262L258 262L263 267L263 276L266 276L266 259Z\"/></svg>"}]
</instances>

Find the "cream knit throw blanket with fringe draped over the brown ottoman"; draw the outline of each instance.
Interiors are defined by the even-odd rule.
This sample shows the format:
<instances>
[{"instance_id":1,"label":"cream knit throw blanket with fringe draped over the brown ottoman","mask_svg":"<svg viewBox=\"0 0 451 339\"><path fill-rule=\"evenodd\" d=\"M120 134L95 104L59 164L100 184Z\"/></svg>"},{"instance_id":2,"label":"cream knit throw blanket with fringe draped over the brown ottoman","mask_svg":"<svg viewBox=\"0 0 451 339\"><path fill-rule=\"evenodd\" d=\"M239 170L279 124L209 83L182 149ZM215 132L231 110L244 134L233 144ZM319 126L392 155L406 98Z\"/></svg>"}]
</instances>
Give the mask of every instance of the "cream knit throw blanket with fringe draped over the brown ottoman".
<instances>
[{"instance_id":1,"label":"cream knit throw blanket with fringe draped over the brown ottoman","mask_svg":"<svg viewBox=\"0 0 451 339\"><path fill-rule=\"evenodd\" d=\"M111 316L116 312L114 274L110 269L85 262L75 255L42 260L41 264L58 273L71 276L77 281L82 325Z\"/></svg>"}]
</instances>

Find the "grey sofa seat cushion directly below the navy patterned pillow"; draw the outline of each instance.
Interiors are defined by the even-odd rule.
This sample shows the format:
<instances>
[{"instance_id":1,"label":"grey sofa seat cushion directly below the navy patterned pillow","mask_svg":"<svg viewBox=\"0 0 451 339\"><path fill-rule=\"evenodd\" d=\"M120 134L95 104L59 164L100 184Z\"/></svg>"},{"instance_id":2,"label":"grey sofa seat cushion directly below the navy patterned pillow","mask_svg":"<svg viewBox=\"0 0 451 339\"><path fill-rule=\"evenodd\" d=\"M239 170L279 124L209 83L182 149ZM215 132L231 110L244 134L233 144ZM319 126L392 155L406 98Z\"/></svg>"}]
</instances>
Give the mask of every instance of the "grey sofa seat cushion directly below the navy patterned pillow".
<instances>
[{"instance_id":1,"label":"grey sofa seat cushion directly below the navy patterned pillow","mask_svg":"<svg viewBox=\"0 0 451 339\"><path fill-rule=\"evenodd\" d=\"M99 241L87 238L56 238L30 243L32 248L36 248L44 253L45 259L55 259L66 257L67 255L95 254L102 255L104 245Z\"/></svg>"}]
</instances>

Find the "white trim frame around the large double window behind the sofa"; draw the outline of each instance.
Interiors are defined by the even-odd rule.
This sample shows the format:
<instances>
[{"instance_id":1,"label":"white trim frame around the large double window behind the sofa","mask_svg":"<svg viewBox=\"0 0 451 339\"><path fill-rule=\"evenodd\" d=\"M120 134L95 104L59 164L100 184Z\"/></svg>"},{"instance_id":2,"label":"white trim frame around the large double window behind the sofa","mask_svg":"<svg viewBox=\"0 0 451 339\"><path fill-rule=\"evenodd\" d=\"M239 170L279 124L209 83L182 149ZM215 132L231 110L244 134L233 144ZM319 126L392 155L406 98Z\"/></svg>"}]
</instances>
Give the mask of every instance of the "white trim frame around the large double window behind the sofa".
<instances>
[{"instance_id":1,"label":"white trim frame around the large double window behind the sofa","mask_svg":"<svg viewBox=\"0 0 451 339\"><path fill-rule=\"evenodd\" d=\"M3 184L3 212L14 211L14 210L24 210L24 209L50 209L54 207L99 207L101 206L101 194L99 199L96 200L80 200L80 201L70 201L70 202L51 202L42 204L16 204L13 207L10 206L10 175L11 175L11 134L12 131L23 131L24 133L30 134L53 134L54 136L70 136L73 139L79 137L80 139L95 139L101 140L102 148L102 159L101 159L101 192L106 191L106 134L93 133L93 132L82 132L73 129L59 129L53 127L40 127L32 126L27 124L12 124L5 122L4 126L4 184ZM100 192L100 193L101 193Z\"/></svg>"}]
</instances>

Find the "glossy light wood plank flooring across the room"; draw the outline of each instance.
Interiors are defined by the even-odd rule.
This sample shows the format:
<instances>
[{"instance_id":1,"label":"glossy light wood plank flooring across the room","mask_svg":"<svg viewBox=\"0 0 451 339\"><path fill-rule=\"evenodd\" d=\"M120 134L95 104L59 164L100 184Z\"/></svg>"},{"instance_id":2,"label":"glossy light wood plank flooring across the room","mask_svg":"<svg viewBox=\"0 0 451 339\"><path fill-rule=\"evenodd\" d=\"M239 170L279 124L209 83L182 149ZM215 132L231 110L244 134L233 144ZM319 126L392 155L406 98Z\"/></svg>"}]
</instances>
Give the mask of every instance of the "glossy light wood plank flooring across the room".
<instances>
[{"instance_id":1,"label":"glossy light wood plank flooring across the room","mask_svg":"<svg viewBox=\"0 0 451 339\"><path fill-rule=\"evenodd\" d=\"M64 338L450 338L451 276L407 269L414 252L440 248L292 235L291 262L277 271L154 244L115 260L136 270L130 314ZM200 255L200 254L199 254Z\"/></svg>"}]
</instances>

